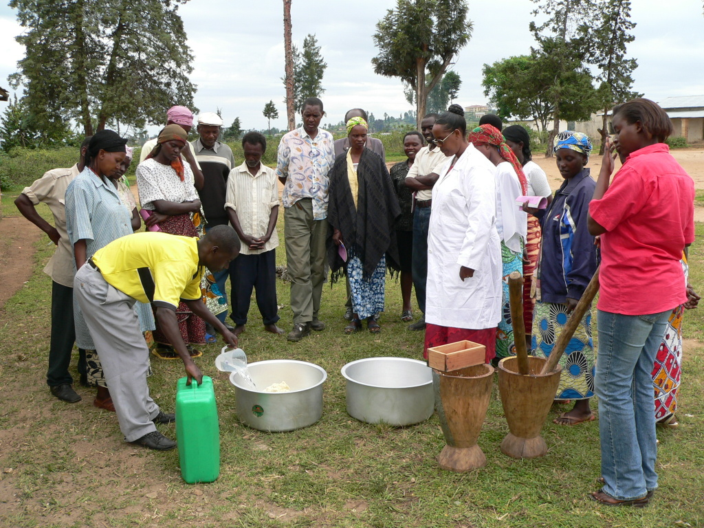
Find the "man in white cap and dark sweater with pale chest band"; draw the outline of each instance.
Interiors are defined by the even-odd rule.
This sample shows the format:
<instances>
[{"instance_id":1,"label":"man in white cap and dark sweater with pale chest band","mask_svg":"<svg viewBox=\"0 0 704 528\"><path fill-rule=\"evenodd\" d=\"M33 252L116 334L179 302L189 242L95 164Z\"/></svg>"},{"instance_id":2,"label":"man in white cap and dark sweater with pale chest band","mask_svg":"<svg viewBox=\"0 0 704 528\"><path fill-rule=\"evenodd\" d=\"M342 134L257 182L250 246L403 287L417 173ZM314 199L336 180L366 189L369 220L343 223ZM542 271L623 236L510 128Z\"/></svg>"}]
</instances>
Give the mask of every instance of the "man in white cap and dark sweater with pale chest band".
<instances>
[{"instance_id":1,"label":"man in white cap and dark sweater with pale chest band","mask_svg":"<svg viewBox=\"0 0 704 528\"><path fill-rule=\"evenodd\" d=\"M230 222L225 210L225 195L227 194L227 177L235 165L232 149L218 141L220 127L222 127L220 115L215 112L199 114L198 126L196 127L199 138L191 142L191 149L196 153L196 161L203 171L203 187L198 189L198 194L201 197L203 213L206 215L206 231L215 225L228 225ZM229 275L230 271L227 269L213 273L215 283L218 284L220 294L225 297L225 302L227 302L225 282ZM225 324L227 310L219 313L216 317ZM225 326L233 329L230 325ZM213 329L206 326L206 332L214 336L215 331L211 330Z\"/></svg>"}]
</instances>

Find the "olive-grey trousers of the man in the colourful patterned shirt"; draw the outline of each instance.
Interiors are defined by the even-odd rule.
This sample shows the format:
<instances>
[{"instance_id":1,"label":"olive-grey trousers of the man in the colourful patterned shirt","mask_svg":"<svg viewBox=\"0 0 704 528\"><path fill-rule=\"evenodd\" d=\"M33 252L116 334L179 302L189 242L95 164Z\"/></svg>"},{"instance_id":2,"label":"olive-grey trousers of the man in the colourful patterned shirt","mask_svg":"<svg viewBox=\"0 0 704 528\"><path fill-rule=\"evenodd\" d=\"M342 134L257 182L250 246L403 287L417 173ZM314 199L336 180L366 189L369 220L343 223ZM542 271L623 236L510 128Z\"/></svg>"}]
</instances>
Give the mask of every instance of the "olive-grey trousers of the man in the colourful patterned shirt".
<instances>
[{"instance_id":1,"label":"olive-grey trousers of the man in the colourful patterned shirt","mask_svg":"<svg viewBox=\"0 0 704 528\"><path fill-rule=\"evenodd\" d=\"M294 325L318 320L322 284L325 282L327 232L327 220L313 220L313 200L298 200L284 209L284 239Z\"/></svg>"}]
</instances>

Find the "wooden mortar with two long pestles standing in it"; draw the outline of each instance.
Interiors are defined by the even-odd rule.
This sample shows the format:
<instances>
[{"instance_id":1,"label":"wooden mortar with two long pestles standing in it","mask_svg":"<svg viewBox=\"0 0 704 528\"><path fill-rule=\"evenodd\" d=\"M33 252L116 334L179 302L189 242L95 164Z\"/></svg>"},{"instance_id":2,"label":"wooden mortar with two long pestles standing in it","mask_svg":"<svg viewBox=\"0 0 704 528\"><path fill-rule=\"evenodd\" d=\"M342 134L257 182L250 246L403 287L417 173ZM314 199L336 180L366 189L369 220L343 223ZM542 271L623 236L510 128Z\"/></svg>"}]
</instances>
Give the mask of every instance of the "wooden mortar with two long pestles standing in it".
<instances>
[{"instance_id":1,"label":"wooden mortar with two long pestles standing in it","mask_svg":"<svg viewBox=\"0 0 704 528\"><path fill-rule=\"evenodd\" d=\"M513 458L535 458L548 452L540 436L560 383L560 367L541 375L546 362L529 356L529 375L518 373L515 357L498 363L498 391L510 433L501 442L501 452Z\"/></svg>"}]
</instances>

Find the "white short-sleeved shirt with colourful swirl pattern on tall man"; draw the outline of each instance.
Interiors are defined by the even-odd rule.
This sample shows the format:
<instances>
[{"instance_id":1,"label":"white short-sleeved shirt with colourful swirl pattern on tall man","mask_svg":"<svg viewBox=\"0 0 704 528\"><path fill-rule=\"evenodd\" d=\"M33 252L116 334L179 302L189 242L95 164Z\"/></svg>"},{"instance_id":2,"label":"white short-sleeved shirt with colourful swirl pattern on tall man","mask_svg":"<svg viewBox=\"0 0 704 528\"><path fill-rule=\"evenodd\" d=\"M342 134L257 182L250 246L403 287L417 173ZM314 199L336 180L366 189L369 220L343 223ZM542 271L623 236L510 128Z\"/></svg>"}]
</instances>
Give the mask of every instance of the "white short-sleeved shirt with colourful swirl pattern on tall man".
<instances>
[{"instance_id":1,"label":"white short-sleeved shirt with colourful swirl pattern on tall man","mask_svg":"<svg viewBox=\"0 0 704 528\"><path fill-rule=\"evenodd\" d=\"M327 130L318 129L315 138L301 127L281 138L276 175L285 178L282 201L291 207L298 200L313 199L313 219L327 218L327 173L335 161L334 140Z\"/></svg>"}]
</instances>

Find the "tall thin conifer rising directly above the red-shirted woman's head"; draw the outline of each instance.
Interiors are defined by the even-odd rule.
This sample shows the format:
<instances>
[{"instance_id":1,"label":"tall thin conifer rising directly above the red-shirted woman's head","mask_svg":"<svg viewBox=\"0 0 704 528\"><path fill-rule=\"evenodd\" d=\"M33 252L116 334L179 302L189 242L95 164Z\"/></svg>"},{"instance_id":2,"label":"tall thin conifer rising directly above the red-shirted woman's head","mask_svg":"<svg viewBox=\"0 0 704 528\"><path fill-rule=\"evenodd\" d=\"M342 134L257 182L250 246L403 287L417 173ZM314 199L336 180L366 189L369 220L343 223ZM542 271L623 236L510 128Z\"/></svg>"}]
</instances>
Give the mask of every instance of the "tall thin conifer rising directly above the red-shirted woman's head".
<instances>
[{"instance_id":1,"label":"tall thin conifer rising directly above the red-shirted woman's head","mask_svg":"<svg viewBox=\"0 0 704 528\"><path fill-rule=\"evenodd\" d=\"M626 46L636 37L629 33L635 27L631 22L631 2L629 0L602 0L599 6L600 20L593 29L592 54L589 62L599 68L596 80L599 82L598 97L603 108L601 120L601 148L609 134L608 111L617 103L640 96L631 91L633 71L638 67L634 58L626 58Z\"/></svg>"}]
</instances>

